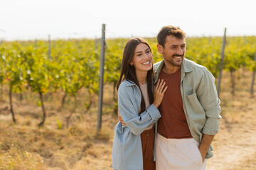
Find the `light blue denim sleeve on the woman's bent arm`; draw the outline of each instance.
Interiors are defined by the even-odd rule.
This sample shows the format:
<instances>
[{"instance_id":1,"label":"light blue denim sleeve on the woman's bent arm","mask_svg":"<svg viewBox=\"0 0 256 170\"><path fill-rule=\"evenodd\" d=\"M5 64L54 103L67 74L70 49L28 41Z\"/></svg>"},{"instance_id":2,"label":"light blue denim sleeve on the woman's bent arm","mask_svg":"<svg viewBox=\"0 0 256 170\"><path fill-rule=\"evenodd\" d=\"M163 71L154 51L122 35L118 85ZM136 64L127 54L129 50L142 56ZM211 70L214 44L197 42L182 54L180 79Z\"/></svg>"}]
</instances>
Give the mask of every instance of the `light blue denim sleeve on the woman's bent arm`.
<instances>
[{"instance_id":1,"label":"light blue denim sleeve on the woman's bent arm","mask_svg":"<svg viewBox=\"0 0 256 170\"><path fill-rule=\"evenodd\" d=\"M159 110L151 104L146 111L139 114L136 96L132 86L121 84L117 91L119 113L127 125L127 128L134 134L140 135L151 123L161 118Z\"/></svg>"}]
</instances>

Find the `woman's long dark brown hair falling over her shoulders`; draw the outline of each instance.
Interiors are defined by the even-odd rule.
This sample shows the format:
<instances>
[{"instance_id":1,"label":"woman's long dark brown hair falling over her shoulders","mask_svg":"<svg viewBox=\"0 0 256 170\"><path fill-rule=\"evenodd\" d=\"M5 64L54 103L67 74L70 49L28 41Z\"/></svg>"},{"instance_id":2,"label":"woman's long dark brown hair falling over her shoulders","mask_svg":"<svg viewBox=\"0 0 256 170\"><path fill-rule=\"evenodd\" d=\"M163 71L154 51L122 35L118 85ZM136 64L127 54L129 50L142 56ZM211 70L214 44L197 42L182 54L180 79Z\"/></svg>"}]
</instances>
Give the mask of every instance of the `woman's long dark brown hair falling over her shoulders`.
<instances>
[{"instance_id":1,"label":"woman's long dark brown hair falling over her shoulders","mask_svg":"<svg viewBox=\"0 0 256 170\"><path fill-rule=\"evenodd\" d=\"M127 44L125 45L123 57L122 57L121 73L120 73L119 81L117 82L117 91L118 91L120 84L122 83L122 81L124 79L126 79L127 81L130 81L132 83L135 83L139 87L139 81L136 76L135 68L134 68L134 66L130 65L130 62L132 61L132 58L134 57L134 52L135 52L137 45L139 45L141 43L143 43L149 47L149 44L146 42L146 40L143 40L142 38L132 38L132 39L128 40ZM149 47L149 50L151 52L150 47ZM149 103L150 104L153 103L153 101L154 101L154 94L152 91L153 78L154 78L154 71L153 71L153 67L152 67L152 69L150 69L146 74L147 91L149 94ZM142 94L142 90L140 89L140 87L139 87L139 90L141 91L141 94ZM144 112L145 110L146 110L145 101L142 96L141 112L140 113Z\"/></svg>"}]
</instances>

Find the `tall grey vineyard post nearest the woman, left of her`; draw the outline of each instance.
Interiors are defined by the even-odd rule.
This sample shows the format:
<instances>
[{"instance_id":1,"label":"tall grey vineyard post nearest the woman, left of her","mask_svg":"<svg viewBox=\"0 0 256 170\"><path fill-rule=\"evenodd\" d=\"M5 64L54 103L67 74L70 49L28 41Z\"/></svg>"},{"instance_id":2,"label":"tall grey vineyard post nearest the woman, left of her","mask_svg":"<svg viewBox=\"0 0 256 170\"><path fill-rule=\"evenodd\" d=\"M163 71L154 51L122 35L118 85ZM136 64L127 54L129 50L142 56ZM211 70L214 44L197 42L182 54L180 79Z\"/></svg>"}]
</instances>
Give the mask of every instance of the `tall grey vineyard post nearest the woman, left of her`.
<instances>
[{"instance_id":1,"label":"tall grey vineyard post nearest the woman, left of her","mask_svg":"<svg viewBox=\"0 0 256 170\"><path fill-rule=\"evenodd\" d=\"M101 123L102 123L104 60L105 60L105 24L102 24L102 38L100 43L100 86L99 86L99 100L98 100L97 131L100 131Z\"/></svg>"}]
</instances>

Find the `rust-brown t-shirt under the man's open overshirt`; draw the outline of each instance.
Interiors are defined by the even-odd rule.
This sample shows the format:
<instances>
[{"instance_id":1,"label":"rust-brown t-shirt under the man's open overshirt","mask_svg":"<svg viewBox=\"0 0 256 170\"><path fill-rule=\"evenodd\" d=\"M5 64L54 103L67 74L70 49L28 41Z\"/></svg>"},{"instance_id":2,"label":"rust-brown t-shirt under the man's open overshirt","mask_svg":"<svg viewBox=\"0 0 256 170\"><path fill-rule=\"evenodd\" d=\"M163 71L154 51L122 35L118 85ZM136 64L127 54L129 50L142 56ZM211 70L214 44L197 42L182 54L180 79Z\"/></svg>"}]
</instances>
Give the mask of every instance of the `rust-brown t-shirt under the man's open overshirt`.
<instances>
[{"instance_id":1,"label":"rust-brown t-shirt under the man's open overshirt","mask_svg":"<svg viewBox=\"0 0 256 170\"><path fill-rule=\"evenodd\" d=\"M161 113L158 124L159 134L166 138L191 138L181 98L181 69L172 74L161 70L159 79L164 79L168 86L159 106Z\"/></svg>"}]
</instances>

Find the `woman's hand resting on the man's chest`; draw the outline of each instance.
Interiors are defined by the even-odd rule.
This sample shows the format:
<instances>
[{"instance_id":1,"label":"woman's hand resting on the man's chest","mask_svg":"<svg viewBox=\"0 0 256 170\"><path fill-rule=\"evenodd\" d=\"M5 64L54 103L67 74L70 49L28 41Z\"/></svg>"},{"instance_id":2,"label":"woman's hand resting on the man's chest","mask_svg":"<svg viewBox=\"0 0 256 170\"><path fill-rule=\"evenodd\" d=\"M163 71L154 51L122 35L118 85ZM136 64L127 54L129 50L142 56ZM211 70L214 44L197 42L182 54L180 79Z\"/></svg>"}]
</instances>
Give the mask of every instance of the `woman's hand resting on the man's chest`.
<instances>
[{"instance_id":1,"label":"woman's hand resting on the man's chest","mask_svg":"<svg viewBox=\"0 0 256 170\"><path fill-rule=\"evenodd\" d=\"M167 86L164 87L166 83L164 82L164 79L160 81L160 79L157 81L156 85L154 86L154 106L158 108L164 98L164 93L167 90Z\"/></svg>"}]
</instances>

